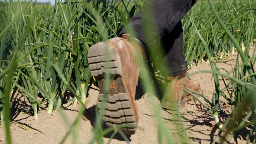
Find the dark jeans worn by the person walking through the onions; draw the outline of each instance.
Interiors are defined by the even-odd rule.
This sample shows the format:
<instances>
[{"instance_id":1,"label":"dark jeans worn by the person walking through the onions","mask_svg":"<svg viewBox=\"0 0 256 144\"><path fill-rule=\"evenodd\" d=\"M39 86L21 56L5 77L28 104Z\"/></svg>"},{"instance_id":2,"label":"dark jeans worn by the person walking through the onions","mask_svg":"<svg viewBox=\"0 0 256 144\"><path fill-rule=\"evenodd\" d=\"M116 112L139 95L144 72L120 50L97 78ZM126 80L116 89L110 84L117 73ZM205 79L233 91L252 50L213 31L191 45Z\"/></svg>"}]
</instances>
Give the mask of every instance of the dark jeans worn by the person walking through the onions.
<instances>
[{"instance_id":1,"label":"dark jeans worn by the person walking through the onions","mask_svg":"<svg viewBox=\"0 0 256 144\"><path fill-rule=\"evenodd\" d=\"M197 0L147 0L139 12L131 18L130 24L119 36L129 33L138 38L154 56L156 48L163 47L164 76L177 76L186 72L187 62L183 52L183 31L181 19ZM159 63L158 62L158 63Z\"/></svg>"}]
</instances>

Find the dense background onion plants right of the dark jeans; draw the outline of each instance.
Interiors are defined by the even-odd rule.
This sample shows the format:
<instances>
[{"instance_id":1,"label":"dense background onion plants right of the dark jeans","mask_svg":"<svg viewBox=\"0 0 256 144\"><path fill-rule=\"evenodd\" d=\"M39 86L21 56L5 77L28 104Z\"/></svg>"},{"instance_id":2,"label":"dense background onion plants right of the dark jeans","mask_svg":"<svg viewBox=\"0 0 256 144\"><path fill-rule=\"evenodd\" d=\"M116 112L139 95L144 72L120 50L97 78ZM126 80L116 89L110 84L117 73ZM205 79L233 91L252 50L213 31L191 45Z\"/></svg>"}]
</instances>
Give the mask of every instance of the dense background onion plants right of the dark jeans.
<instances>
[{"instance_id":1,"label":"dense background onion plants right of the dark jeans","mask_svg":"<svg viewBox=\"0 0 256 144\"><path fill-rule=\"evenodd\" d=\"M253 26L250 25L255 17L255 1L224 0L214 1L214 5L218 15L227 24L228 30L238 44L253 46L256 33ZM202 60L207 59L204 44L198 41L200 38L196 34L196 30L190 28L192 26L190 16L193 17L198 31L206 41L213 60L223 61L222 58L234 54L234 43L209 9L210 5L206 0L198 1L182 20L184 47L186 49L184 52L189 64L193 60L195 60L196 64L199 64ZM248 31L247 28L252 29Z\"/></svg>"}]
</instances>

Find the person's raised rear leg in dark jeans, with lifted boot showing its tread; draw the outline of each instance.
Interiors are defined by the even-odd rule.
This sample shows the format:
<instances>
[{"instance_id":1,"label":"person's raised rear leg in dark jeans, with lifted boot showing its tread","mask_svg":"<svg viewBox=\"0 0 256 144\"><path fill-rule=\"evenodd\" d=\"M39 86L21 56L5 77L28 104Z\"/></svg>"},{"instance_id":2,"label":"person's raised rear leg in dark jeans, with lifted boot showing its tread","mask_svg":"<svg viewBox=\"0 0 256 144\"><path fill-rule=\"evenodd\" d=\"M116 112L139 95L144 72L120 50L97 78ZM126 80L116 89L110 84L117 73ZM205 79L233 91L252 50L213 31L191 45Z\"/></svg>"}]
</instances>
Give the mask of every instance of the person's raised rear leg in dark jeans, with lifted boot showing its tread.
<instances>
[{"instance_id":1,"label":"person's raised rear leg in dark jeans, with lifted boot showing its tread","mask_svg":"<svg viewBox=\"0 0 256 144\"><path fill-rule=\"evenodd\" d=\"M142 58L144 52L141 45L145 45L149 51L154 50L154 45L159 45L158 42L173 31L195 1L148 0L132 18L130 25L120 33L120 38L100 42L89 49L89 68L99 83L98 108L104 110L102 119L108 126L119 125L126 134L135 133L138 122L135 90L139 71L134 55L139 53ZM153 13L155 18L146 15L148 12ZM161 18L158 19L159 16ZM127 36L129 27L136 32L131 37L138 41ZM153 30L150 34L147 34L148 27ZM104 100L106 104L103 107Z\"/></svg>"}]
</instances>

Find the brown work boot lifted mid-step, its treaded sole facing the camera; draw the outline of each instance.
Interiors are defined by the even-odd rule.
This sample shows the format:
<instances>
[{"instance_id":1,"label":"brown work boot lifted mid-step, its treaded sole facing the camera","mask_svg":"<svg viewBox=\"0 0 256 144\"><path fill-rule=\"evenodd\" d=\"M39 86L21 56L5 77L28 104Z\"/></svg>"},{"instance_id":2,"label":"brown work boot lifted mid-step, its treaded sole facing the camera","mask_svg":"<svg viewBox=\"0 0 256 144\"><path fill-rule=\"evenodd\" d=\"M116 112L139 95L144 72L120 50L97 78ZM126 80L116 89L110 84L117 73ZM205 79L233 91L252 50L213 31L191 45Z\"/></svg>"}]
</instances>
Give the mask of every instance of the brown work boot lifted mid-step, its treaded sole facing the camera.
<instances>
[{"instance_id":1,"label":"brown work boot lifted mid-step, its treaded sole facing the camera","mask_svg":"<svg viewBox=\"0 0 256 144\"><path fill-rule=\"evenodd\" d=\"M142 51L140 44L128 35L99 42L88 51L91 74L98 79L102 119L107 126L118 125L125 134L134 134L137 129L135 92L139 69L135 54L142 56Z\"/></svg>"}]
</instances>

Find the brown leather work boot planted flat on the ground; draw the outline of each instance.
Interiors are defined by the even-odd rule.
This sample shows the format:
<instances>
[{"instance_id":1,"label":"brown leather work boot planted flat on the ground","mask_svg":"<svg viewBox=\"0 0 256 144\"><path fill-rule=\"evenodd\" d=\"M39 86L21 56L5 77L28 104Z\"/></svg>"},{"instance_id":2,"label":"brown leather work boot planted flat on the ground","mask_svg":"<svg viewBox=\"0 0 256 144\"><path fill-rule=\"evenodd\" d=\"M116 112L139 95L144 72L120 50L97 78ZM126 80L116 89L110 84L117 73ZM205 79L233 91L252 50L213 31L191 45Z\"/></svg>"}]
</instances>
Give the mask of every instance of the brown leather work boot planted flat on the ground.
<instances>
[{"instance_id":1,"label":"brown leather work boot planted flat on the ground","mask_svg":"<svg viewBox=\"0 0 256 144\"><path fill-rule=\"evenodd\" d=\"M165 109L177 110L181 91L182 89L188 90L186 87L195 92L201 93L199 82L197 80L188 78L186 73L174 77L167 77L167 80L168 86L166 88L166 96L162 105L162 107ZM186 102L189 100L194 100L194 97L183 91L180 100L180 109L184 108Z\"/></svg>"}]
</instances>

